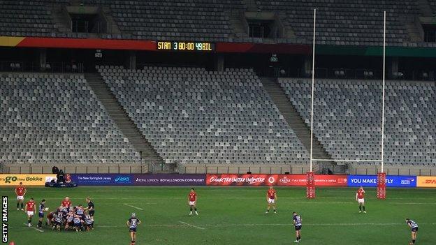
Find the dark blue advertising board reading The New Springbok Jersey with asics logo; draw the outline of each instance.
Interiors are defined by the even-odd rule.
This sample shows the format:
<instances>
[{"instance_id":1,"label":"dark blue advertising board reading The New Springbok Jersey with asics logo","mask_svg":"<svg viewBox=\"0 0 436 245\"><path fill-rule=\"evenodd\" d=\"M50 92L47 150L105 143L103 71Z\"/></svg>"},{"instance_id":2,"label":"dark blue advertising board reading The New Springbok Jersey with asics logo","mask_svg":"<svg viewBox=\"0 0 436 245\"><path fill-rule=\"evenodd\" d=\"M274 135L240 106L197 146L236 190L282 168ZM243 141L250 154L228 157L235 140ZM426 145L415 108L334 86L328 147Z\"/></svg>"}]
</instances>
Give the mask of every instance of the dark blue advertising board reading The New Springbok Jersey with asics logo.
<instances>
[{"instance_id":1,"label":"dark blue advertising board reading The New Springbok Jersey with asics logo","mask_svg":"<svg viewBox=\"0 0 436 245\"><path fill-rule=\"evenodd\" d=\"M73 174L71 181L78 186L131 186L133 175L123 174Z\"/></svg>"}]
</instances>

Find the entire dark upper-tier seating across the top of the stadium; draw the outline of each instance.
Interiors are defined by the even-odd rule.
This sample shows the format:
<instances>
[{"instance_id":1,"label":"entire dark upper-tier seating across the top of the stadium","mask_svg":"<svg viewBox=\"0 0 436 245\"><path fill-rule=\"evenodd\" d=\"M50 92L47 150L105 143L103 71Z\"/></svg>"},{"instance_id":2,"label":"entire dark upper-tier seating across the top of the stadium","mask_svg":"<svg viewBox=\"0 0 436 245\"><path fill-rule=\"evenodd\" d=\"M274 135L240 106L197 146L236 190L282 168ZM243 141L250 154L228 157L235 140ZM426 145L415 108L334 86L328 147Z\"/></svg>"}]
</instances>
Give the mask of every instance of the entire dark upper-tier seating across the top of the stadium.
<instances>
[{"instance_id":1,"label":"entire dark upper-tier seating across the top of the stadium","mask_svg":"<svg viewBox=\"0 0 436 245\"><path fill-rule=\"evenodd\" d=\"M69 6L68 0L1 1L0 34L2 36L49 36L87 38L88 34L60 31L54 20L53 6ZM108 9L121 33L99 34L101 38L143 40L197 40L214 42L263 43L263 38L238 36L231 24L232 15L248 10L242 0L164 0L164 1L80 1L85 6ZM434 47L434 43L413 40L410 32L418 31L407 23L422 15L414 0L375 1L255 1L259 12L277 13L289 23L293 38L277 38L277 43L312 43L313 9L317 8L318 43L321 45L382 45L383 10L387 11L387 44L390 46ZM253 3L250 3L253 4ZM436 6L435 1L428 2ZM434 12L434 11L433 11ZM239 24L241 24L239 23ZM410 24L410 23L409 23ZM416 22L415 24L418 24ZM247 29L242 24L242 29ZM69 27L66 27L68 29ZM242 30L246 31L246 30ZM93 36L95 37L95 36Z\"/></svg>"}]
</instances>

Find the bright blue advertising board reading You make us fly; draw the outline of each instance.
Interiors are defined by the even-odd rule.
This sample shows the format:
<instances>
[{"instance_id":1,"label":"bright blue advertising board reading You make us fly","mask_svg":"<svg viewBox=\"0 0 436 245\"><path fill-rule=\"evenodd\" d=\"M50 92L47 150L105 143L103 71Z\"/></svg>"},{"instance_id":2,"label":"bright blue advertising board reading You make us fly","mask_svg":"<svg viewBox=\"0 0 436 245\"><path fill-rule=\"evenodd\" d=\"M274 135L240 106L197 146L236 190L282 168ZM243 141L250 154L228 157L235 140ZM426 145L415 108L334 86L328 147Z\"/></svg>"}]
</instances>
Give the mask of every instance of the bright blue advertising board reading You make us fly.
<instances>
[{"instance_id":1,"label":"bright blue advertising board reading You make us fly","mask_svg":"<svg viewBox=\"0 0 436 245\"><path fill-rule=\"evenodd\" d=\"M377 175L348 175L348 186L377 186ZM386 176L386 187L416 187L416 176Z\"/></svg>"}]
</instances>

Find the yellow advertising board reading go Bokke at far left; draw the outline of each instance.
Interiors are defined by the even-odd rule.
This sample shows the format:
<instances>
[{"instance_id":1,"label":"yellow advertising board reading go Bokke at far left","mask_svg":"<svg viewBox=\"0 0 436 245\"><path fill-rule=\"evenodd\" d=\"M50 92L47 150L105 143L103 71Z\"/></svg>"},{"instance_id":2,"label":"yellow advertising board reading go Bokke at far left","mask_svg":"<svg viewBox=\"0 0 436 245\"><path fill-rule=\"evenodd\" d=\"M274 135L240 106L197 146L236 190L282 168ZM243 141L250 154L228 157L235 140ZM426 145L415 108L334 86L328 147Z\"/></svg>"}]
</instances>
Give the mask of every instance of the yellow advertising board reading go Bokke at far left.
<instances>
[{"instance_id":1,"label":"yellow advertising board reading go Bokke at far left","mask_svg":"<svg viewBox=\"0 0 436 245\"><path fill-rule=\"evenodd\" d=\"M22 182L24 186L44 186L45 182L56 179L56 175L0 175L0 186L17 186Z\"/></svg>"}]
</instances>

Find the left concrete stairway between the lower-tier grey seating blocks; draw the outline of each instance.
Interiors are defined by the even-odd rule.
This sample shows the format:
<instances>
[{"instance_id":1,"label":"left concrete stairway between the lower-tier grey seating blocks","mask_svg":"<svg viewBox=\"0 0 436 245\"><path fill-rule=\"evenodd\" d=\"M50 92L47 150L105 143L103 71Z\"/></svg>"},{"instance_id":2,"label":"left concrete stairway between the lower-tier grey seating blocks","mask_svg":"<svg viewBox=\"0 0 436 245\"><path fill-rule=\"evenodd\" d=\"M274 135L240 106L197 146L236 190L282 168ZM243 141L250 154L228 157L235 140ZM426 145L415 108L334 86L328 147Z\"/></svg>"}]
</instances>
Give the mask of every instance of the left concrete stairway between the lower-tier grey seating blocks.
<instances>
[{"instance_id":1,"label":"left concrete stairway between the lower-tier grey seating blocks","mask_svg":"<svg viewBox=\"0 0 436 245\"><path fill-rule=\"evenodd\" d=\"M112 94L103 78L98 73L86 73L85 78L94 94L105 107L106 112L117 124L119 131L129 140L136 151L141 153L143 160L152 163L163 163L163 159L152 147L152 144L147 141L123 107L119 105L117 98Z\"/></svg>"}]
</instances>

